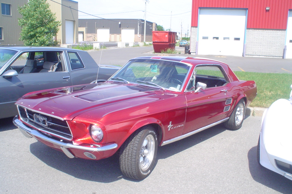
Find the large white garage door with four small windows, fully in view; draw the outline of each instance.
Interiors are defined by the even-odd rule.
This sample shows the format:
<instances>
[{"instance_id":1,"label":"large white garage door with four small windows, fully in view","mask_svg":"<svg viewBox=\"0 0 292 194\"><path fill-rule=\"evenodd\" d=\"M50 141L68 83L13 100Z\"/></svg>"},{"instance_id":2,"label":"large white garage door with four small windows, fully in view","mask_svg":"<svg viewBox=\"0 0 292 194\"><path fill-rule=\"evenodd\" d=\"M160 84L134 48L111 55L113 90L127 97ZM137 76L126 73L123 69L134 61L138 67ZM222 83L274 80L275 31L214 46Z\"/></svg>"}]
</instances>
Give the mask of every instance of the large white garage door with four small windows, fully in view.
<instances>
[{"instance_id":1,"label":"large white garage door with four small windows, fully in view","mask_svg":"<svg viewBox=\"0 0 292 194\"><path fill-rule=\"evenodd\" d=\"M242 56L246 10L200 9L199 55Z\"/></svg>"}]
</instances>

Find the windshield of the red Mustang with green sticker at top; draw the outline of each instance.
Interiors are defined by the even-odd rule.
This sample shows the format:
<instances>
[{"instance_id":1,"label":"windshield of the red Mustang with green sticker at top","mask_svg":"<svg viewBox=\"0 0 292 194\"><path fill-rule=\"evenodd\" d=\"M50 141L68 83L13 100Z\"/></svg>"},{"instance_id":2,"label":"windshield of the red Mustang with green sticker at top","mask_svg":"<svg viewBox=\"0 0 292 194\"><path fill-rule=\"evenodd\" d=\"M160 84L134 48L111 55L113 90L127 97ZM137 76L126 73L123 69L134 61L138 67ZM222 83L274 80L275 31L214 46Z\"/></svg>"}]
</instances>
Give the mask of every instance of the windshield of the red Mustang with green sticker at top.
<instances>
[{"instance_id":1,"label":"windshield of the red Mustang with green sticker at top","mask_svg":"<svg viewBox=\"0 0 292 194\"><path fill-rule=\"evenodd\" d=\"M190 66L184 63L136 59L124 65L110 80L181 91L189 70Z\"/></svg>"}]
</instances>

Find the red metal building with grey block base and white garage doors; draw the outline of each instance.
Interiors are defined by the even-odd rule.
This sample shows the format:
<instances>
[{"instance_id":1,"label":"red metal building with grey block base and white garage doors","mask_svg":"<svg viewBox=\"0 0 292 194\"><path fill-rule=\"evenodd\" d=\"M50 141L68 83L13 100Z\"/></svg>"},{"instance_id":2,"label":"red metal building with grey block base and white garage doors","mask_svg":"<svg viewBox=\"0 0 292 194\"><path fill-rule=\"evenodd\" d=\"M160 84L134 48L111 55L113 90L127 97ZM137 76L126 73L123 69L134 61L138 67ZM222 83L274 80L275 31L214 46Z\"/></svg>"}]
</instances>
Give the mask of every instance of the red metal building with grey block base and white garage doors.
<instances>
[{"instance_id":1,"label":"red metal building with grey block base and white garage doors","mask_svg":"<svg viewBox=\"0 0 292 194\"><path fill-rule=\"evenodd\" d=\"M292 1L193 0L191 53L208 52L292 58Z\"/></svg>"}]
</instances>

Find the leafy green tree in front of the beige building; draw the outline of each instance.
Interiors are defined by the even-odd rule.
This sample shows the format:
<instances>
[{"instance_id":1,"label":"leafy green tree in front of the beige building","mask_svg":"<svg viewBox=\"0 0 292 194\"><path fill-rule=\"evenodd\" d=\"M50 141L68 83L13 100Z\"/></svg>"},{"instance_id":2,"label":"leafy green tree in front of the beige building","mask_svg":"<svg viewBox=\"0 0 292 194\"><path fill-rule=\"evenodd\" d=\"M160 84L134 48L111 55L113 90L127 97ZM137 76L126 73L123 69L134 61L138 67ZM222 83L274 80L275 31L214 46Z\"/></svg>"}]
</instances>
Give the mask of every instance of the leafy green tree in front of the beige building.
<instances>
[{"instance_id":1,"label":"leafy green tree in front of the beige building","mask_svg":"<svg viewBox=\"0 0 292 194\"><path fill-rule=\"evenodd\" d=\"M27 4L18 8L22 18L18 19L21 27L20 40L25 45L56 46L54 40L59 31L60 21L49 9L46 0L29 0Z\"/></svg>"}]
</instances>

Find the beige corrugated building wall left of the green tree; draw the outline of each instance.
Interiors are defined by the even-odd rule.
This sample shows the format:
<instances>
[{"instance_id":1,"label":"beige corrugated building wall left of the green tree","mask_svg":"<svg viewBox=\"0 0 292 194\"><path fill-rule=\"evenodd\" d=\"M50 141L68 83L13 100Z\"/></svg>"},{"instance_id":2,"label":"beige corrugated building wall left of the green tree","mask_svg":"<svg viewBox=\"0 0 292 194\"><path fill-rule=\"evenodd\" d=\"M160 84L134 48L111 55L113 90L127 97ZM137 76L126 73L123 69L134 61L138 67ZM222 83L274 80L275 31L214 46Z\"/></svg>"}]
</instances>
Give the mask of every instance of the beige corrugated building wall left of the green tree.
<instances>
[{"instance_id":1,"label":"beige corrugated building wall left of the green tree","mask_svg":"<svg viewBox=\"0 0 292 194\"><path fill-rule=\"evenodd\" d=\"M10 4L10 14L3 15L0 4L0 27L2 28L2 39L0 45L22 45L19 40L21 28L18 25L18 18L21 17L18 7L22 7L27 0L1 0L1 3Z\"/></svg>"}]
</instances>

